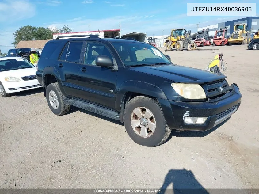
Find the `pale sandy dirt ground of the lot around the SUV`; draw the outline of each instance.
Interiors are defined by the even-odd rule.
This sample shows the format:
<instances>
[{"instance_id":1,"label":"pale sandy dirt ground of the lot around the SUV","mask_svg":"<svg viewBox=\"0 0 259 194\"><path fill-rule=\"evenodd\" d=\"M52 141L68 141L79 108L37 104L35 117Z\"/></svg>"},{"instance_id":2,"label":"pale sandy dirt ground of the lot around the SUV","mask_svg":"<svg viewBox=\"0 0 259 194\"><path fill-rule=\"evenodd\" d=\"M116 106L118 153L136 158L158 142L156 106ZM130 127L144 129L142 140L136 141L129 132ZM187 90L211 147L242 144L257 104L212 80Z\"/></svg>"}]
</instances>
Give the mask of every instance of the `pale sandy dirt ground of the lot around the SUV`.
<instances>
[{"instance_id":1,"label":"pale sandy dirt ground of the lot around the SUV","mask_svg":"<svg viewBox=\"0 0 259 194\"><path fill-rule=\"evenodd\" d=\"M259 51L246 45L164 51L205 69L218 53L241 106L206 132L134 143L120 122L79 108L55 116L42 89L0 97L0 188L259 188Z\"/></svg>"}]
</instances>

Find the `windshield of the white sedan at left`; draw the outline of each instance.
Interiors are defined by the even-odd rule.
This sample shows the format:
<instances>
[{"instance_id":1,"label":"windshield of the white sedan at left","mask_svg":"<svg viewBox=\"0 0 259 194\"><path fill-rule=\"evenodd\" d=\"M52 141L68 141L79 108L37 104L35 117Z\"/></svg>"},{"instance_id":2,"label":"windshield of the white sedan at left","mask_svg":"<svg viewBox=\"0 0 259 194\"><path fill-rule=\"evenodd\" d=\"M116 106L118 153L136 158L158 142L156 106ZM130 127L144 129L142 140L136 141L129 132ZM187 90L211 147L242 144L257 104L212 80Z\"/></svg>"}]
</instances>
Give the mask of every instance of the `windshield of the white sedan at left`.
<instances>
[{"instance_id":1,"label":"windshield of the white sedan at left","mask_svg":"<svg viewBox=\"0 0 259 194\"><path fill-rule=\"evenodd\" d=\"M29 61L25 59L7 59L0 61L0 71L9 71L16 69L24 69L35 67Z\"/></svg>"}]
</instances>

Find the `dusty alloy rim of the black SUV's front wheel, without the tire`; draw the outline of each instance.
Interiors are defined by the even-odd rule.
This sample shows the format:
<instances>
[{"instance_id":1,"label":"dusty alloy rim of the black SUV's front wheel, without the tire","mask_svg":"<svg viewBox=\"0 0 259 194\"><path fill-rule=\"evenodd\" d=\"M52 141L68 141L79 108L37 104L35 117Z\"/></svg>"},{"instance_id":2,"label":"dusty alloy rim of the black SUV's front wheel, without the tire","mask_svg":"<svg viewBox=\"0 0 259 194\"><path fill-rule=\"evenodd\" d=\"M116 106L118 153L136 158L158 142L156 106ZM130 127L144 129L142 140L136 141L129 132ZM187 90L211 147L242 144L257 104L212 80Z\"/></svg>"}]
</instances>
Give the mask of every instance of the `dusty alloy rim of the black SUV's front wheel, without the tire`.
<instances>
[{"instance_id":1,"label":"dusty alloy rim of the black SUV's front wheel, without the tire","mask_svg":"<svg viewBox=\"0 0 259 194\"><path fill-rule=\"evenodd\" d=\"M131 113L131 127L140 137L150 137L156 129L153 113L145 107L135 108Z\"/></svg>"}]
</instances>

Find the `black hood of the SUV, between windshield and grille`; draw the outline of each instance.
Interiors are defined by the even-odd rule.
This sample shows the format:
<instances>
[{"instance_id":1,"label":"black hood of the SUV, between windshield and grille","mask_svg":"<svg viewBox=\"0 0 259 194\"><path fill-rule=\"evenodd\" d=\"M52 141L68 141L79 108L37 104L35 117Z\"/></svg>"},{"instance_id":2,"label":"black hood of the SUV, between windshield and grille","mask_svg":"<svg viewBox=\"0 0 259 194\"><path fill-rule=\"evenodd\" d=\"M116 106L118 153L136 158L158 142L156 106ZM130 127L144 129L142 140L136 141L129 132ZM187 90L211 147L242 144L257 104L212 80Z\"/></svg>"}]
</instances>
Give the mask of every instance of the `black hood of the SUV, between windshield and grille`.
<instances>
[{"instance_id":1,"label":"black hood of the SUV, between windshield and grille","mask_svg":"<svg viewBox=\"0 0 259 194\"><path fill-rule=\"evenodd\" d=\"M197 83L204 84L220 79L227 78L225 75L219 75L207 70L200 70L192 67L179 65L159 65L130 67L131 70L147 73L162 78L169 79L175 83Z\"/></svg>"}]
</instances>

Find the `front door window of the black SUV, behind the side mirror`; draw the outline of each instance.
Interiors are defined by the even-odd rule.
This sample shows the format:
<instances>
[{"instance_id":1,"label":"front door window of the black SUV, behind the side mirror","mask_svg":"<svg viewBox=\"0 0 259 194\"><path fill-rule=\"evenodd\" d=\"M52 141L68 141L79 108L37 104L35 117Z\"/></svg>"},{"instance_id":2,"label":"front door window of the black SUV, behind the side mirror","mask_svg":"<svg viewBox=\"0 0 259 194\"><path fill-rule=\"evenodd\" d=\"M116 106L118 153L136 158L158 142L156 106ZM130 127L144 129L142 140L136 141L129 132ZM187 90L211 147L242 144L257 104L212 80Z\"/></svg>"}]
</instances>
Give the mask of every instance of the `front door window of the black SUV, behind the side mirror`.
<instances>
[{"instance_id":1,"label":"front door window of the black SUV, behind the side mirror","mask_svg":"<svg viewBox=\"0 0 259 194\"><path fill-rule=\"evenodd\" d=\"M86 46L86 56L84 59L84 63L96 65L95 58L98 55L106 55L112 60L112 55L108 48L106 48L106 46L100 43L88 43Z\"/></svg>"}]
</instances>

